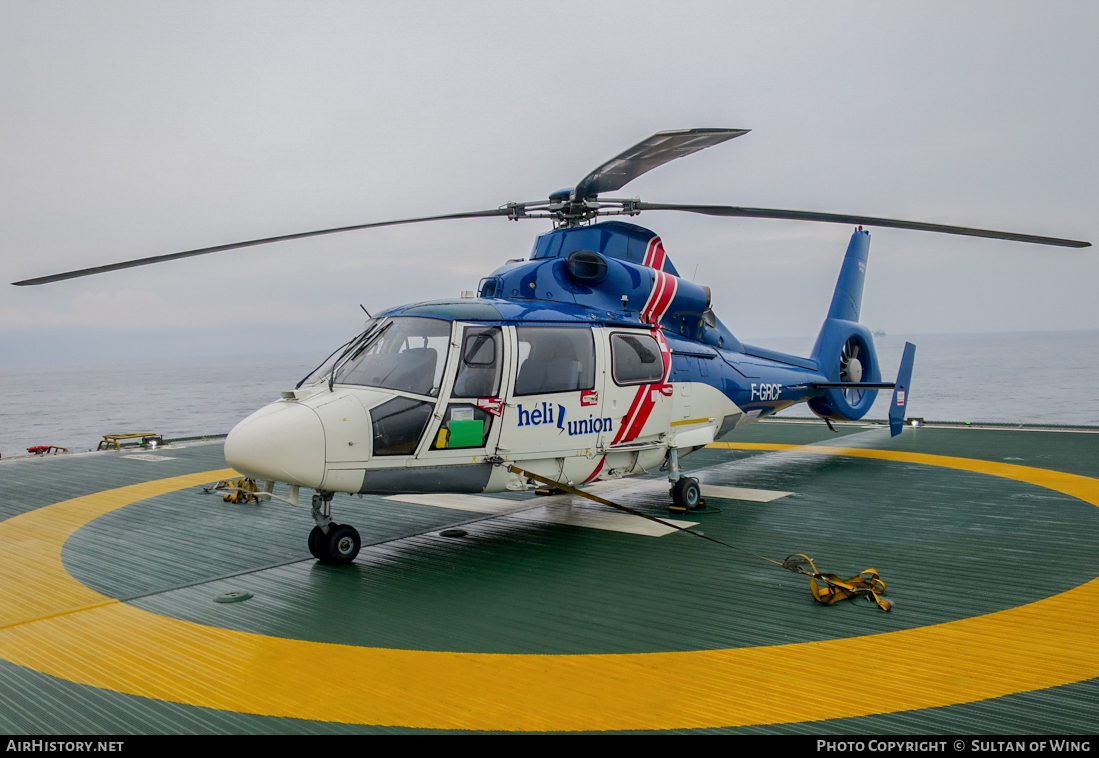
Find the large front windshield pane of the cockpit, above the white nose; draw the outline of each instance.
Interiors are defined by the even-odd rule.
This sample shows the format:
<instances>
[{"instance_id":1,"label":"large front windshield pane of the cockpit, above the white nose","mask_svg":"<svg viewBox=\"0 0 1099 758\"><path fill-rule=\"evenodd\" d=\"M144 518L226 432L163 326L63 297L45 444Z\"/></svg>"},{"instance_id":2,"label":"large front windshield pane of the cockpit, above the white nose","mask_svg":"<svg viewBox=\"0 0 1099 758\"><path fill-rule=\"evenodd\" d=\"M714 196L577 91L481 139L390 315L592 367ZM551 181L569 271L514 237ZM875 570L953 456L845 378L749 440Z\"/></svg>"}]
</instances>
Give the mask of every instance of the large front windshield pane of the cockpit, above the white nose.
<instances>
[{"instance_id":1,"label":"large front windshield pane of the cockpit, above the white nose","mask_svg":"<svg viewBox=\"0 0 1099 758\"><path fill-rule=\"evenodd\" d=\"M352 341L349 354L333 363L333 382L437 397L449 344L448 321L392 319L362 344Z\"/></svg>"}]
</instances>

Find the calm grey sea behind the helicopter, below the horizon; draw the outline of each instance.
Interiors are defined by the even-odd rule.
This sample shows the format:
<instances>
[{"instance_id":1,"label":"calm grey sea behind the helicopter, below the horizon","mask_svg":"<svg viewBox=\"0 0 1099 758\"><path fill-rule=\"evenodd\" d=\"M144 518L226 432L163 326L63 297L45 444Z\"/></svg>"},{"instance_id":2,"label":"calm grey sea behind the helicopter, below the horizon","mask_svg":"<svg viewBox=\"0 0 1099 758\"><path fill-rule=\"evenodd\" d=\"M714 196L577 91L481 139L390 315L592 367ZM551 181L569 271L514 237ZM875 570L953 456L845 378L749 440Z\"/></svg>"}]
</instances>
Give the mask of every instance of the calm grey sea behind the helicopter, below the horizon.
<instances>
[{"instance_id":1,"label":"calm grey sea behind the helicopter, below the horizon","mask_svg":"<svg viewBox=\"0 0 1099 758\"><path fill-rule=\"evenodd\" d=\"M745 342L808 355L812 337ZM1099 425L1099 331L875 338L882 380L917 345L909 416L929 421ZM0 457L33 445L95 449L104 434L225 434L320 364L315 355L180 358L125 366L0 365ZM867 414L884 419L888 392ZM782 415L810 415L797 405Z\"/></svg>"}]
</instances>

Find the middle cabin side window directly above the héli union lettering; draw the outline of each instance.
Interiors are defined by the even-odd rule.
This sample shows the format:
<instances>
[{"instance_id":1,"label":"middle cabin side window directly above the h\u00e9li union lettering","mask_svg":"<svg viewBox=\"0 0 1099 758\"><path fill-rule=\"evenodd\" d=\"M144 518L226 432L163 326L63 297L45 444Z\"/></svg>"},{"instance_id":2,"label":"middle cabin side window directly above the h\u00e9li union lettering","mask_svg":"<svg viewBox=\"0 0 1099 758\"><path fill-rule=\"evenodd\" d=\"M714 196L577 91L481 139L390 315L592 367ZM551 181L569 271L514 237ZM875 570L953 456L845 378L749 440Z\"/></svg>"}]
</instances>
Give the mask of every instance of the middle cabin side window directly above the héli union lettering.
<instances>
[{"instance_id":1,"label":"middle cabin side window directly above the h\u00e9li union lettering","mask_svg":"<svg viewBox=\"0 0 1099 758\"><path fill-rule=\"evenodd\" d=\"M519 326L515 394L590 390L596 386L596 343L591 330Z\"/></svg>"}]
</instances>

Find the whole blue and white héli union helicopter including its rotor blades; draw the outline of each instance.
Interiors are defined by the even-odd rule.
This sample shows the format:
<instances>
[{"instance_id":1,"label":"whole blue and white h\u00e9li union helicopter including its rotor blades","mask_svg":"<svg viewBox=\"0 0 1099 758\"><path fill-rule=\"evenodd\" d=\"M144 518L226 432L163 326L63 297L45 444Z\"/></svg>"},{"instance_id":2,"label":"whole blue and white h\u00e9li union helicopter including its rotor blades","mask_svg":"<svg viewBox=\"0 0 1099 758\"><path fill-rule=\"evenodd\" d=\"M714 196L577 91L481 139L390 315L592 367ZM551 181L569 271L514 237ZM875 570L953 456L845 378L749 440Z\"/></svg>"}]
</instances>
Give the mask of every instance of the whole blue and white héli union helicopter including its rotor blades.
<instances>
[{"instance_id":1,"label":"whole blue and white h\u00e9li union helicopter including its rotor blades","mask_svg":"<svg viewBox=\"0 0 1099 758\"><path fill-rule=\"evenodd\" d=\"M915 347L906 344L896 381L884 382L873 334L859 323L870 241L865 226L1090 245L875 216L603 197L747 133L658 132L547 200L251 239L13 283L398 224L551 221L553 230L535 239L528 258L489 274L474 297L370 316L293 389L229 433L225 460L263 481L264 499L297 505L301 488L315 491L309 549L323 564L343 565L362 543L354 526L333 520L336 492L503 492L530 489L534 479L571 489L666 469L671 508L688 512L703 501L698 480L680 473L679 459L797 403L831 427L862 419L879 390L892 390L889 428L900 434ZM710 289L679 275L655 232L603 220L646 211L855 225L811 354L742 343L713 312ZM288 498L274 494L276 482L289 486Z\"/></svg>"}]
</instances>

